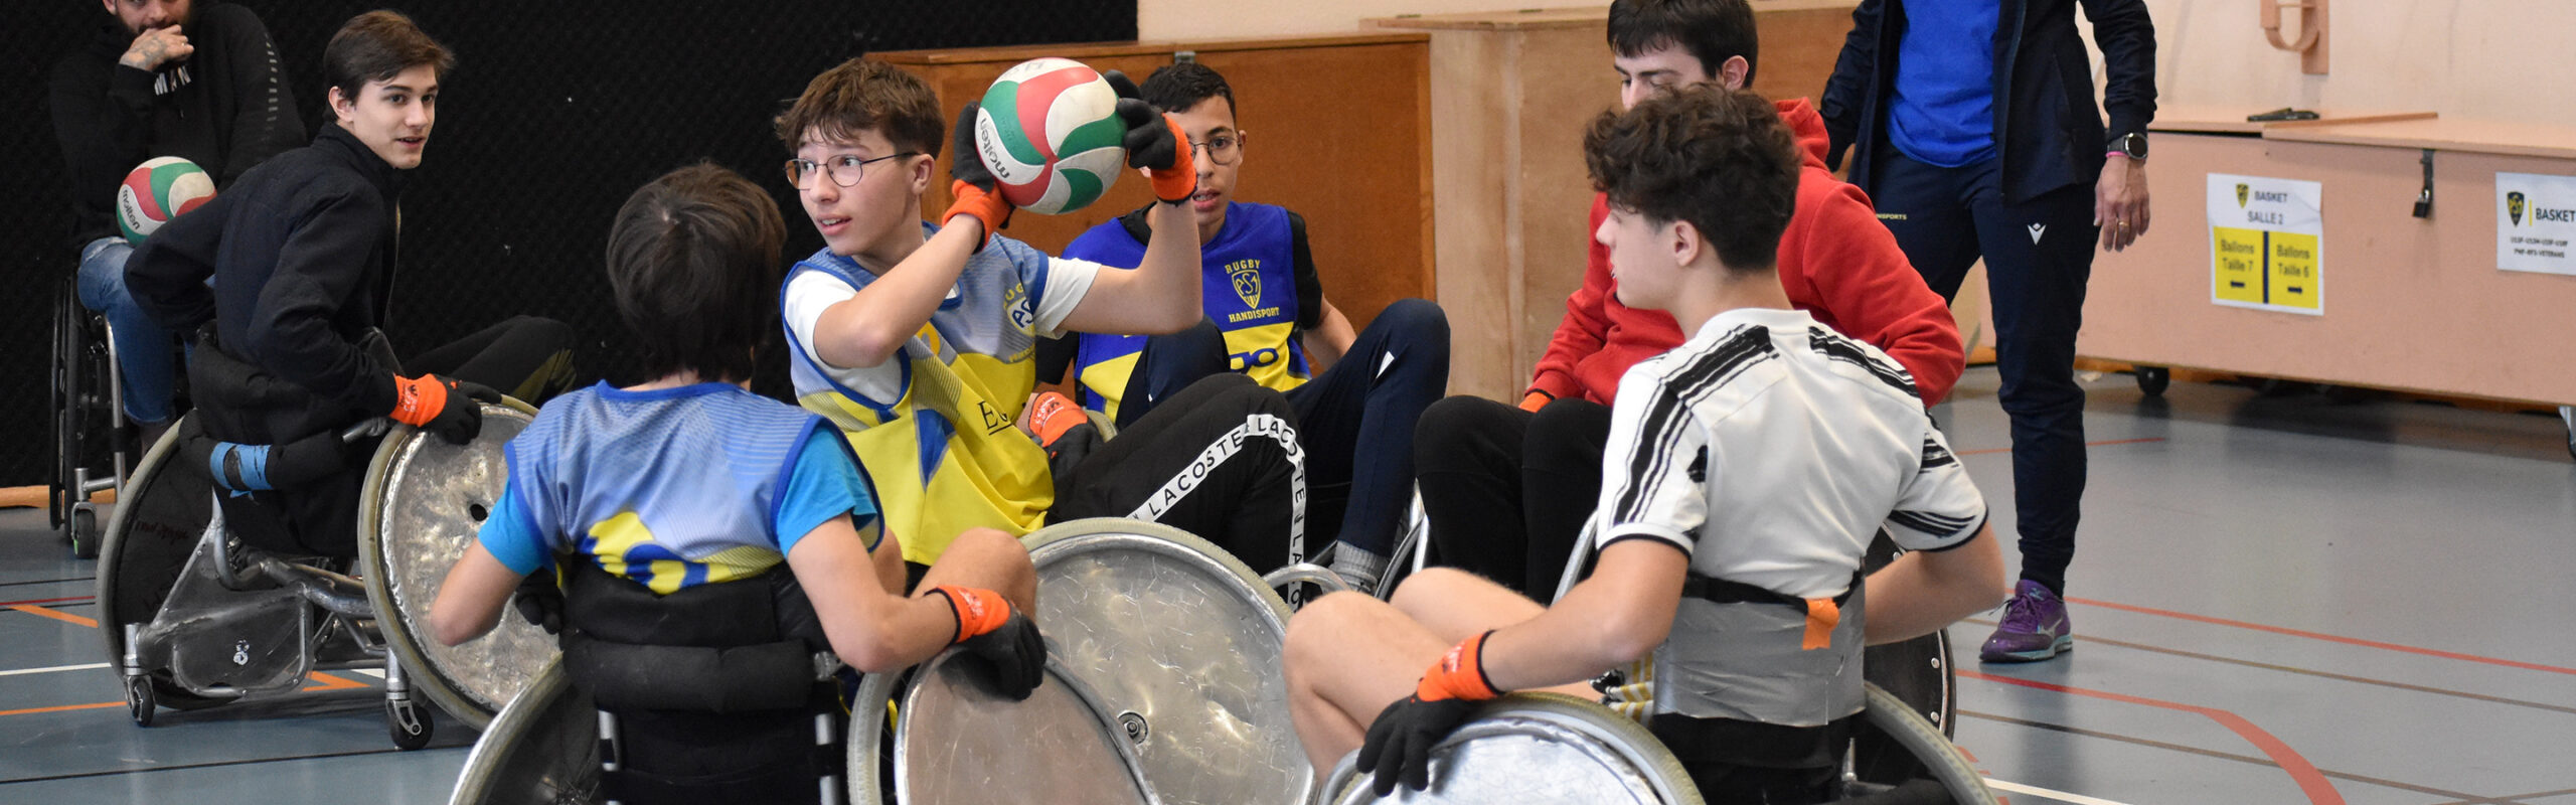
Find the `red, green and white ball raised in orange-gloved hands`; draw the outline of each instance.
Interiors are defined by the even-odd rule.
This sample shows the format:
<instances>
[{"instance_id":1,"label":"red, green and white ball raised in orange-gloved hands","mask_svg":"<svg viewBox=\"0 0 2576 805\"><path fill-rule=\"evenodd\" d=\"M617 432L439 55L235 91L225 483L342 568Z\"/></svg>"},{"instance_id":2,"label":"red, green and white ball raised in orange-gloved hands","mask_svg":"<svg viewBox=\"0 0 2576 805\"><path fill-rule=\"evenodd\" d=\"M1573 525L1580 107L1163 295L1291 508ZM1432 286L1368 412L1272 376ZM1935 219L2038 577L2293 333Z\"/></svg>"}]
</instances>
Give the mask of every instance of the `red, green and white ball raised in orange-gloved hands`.
<instances>
[{"instance_id":1,"label":"red, green and white ball raised in orange-gloved hands","mask_svg":"<svg viewBox=\"0 0 2576 805\"><path fill-rule=\"evenodd\" d=\"M1036 214L1100 201L1126 168L1118 147L1118 93L1074 59L1028 59L984 90L974 121L976 155L1002 199Z\"/></svg>"}]
</instances>

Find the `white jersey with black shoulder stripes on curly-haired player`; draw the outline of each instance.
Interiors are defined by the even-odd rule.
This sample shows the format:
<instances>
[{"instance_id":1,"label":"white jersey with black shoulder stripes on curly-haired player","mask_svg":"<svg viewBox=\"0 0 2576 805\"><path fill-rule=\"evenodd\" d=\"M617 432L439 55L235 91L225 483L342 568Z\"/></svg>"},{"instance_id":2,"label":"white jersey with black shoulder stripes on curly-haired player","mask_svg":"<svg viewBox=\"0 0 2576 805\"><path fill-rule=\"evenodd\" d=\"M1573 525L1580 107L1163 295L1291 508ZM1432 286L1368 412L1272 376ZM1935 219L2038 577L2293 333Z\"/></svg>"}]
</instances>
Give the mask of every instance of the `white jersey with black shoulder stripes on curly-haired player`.
<instances>
[{"instance_id":1,"label":"white jersey with black shoulder stripes on curly-haired player","mask_svg":"<svg viewBox=\"0 0 2576 805\"><path fill-rule=\"evenodd\" d=\"M1811 728L1857 712L1850 593L1870 539L1947 550L1986 521L1904 366L1798 310L1721 312L1631 366L1602 477L1600 547L1690 555L1695 593L1646 673L1659 715Z\"/></svg>"}]
</instances>

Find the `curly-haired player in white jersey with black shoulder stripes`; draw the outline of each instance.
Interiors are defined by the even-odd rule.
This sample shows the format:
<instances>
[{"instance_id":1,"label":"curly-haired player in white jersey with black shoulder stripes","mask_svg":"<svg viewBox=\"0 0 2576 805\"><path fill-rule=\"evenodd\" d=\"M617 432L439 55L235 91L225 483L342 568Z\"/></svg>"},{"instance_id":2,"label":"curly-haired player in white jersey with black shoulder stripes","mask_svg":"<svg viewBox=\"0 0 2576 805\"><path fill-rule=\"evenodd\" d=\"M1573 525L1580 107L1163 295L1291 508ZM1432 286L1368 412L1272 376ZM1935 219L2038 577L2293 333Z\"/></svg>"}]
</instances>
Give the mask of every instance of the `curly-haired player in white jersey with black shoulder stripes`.
<instances>
[{"instance_id":1,"label":"curly-haired player in white jersey with black shoulder stripes","mask_svg":"<svg viewBox=\"0 0 2576 805\"><path fill-rule=\"evenodd\" d=\"M2004 599L1986 506L1873 346L1793 310L1772 268L1798 194L1762 95L1682 88L1584 134L1620 302L1690 333L1620 379L1592 575L1551 606L1427 570L1394 601L1288 622L1288 707L1316 769L1358 748L1381 795L1430 784L1476 702L1589 697L1646 722L1708 802L1832 797L1862 710L1862 642ZM1914 550L1862 583L1878 529ZM1419 668L1430 671L1419 671Z\"/></svg>"}]
</instances>

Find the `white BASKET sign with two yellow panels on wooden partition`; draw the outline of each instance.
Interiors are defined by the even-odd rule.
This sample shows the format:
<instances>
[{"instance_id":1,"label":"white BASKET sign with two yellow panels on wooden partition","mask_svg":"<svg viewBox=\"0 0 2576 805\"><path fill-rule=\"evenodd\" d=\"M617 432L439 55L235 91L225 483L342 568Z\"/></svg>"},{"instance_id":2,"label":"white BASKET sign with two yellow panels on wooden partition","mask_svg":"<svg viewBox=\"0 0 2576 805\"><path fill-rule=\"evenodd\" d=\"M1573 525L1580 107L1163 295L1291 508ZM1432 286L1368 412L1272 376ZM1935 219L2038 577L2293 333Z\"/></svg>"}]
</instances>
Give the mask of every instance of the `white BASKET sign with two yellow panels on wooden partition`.
<instances>
[{"instance_id":1,"label":"white BASKET sign with two yellow panels on wooden partition","mask_svg":"<svg viewBox=\"0 0 2576 805\"><path fill-rule=\"evenodd\" d=\"M2210 302L2326 315L2326 188L2210 173Z\"/></svg>"}]
</instances>

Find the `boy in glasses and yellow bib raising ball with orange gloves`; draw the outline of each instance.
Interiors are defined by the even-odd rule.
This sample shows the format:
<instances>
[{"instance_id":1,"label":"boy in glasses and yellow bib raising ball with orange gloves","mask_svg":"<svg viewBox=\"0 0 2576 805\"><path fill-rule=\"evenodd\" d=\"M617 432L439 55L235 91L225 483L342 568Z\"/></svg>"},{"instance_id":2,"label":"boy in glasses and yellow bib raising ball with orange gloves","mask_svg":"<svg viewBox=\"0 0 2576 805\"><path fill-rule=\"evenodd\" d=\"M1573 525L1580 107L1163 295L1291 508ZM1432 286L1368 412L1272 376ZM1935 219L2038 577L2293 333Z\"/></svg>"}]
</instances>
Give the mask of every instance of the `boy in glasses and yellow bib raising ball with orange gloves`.
<instances>
[{"instance_id":1,"label":"boy in glasses and yellow bib raising ball with orange gloves","mask_svg":"<svg viewBox=\"0 0 2576 805\"><path fill-rule=\"evenodd\" d=\"M938 95L886 62L817 75L778 119L788 181L824 248L788 271L781 310L796 400L848 431L876 475L904 560L930 565L971 526L1028 534L1046 519L1133 516L1180 526L1270 570L1293 560L1303 467L1293 413L1244 377L1211 377L1118 439L1048 452L1025 421L1038 335L1172 333L1198 323L1195 175L1177 126L1123 93L1128 165L1144 168L1159 237L1136 268L1051 258L994 235L1010 201L956 126L956 204L922 219L948 129ZM1061 431L1074 418L1041 418ZM1048 428L1054 423L1054 428ZM1054 441L1054 439L1051 439Z\"/></svg>"}]
</instances>

